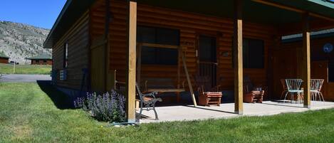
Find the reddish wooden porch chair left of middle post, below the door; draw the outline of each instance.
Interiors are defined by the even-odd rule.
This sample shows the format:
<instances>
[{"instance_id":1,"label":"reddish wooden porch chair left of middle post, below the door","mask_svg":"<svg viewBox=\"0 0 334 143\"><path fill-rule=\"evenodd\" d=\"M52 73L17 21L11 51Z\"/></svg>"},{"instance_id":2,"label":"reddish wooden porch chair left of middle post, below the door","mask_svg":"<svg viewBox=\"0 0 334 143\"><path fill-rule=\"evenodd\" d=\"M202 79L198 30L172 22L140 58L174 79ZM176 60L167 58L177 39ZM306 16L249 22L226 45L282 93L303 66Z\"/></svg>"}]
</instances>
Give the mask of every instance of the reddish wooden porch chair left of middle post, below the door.
<instances>
[{"instance_id":1,"label":"reddish wooden porch chair left of middle post, below the door","mask_svg":"<svg viewBox=\"0 0 334 143\"><path fill-rule=\"evenodd\" d=\"M196 76L197 91L199 92L199 105L220 106L222 93L219 91L220 86L211 86L209 77Z\"/></svg>"}]
</instances>

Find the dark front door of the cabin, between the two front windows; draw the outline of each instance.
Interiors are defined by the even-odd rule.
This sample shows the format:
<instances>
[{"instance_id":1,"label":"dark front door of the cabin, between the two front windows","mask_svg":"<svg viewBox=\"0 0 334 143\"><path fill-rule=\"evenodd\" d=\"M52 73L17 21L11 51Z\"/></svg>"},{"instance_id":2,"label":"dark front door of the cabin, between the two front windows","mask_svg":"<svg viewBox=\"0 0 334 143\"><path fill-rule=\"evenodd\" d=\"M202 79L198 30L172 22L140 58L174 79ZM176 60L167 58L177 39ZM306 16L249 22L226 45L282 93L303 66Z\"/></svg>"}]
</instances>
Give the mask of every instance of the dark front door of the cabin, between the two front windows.
<instances>
[{"instance_id":1,"label":"dark front door of the cabin, between the two front windows","mask_svg":"<svg viewBox=\"0 0 334 143\"><path fill-rule=\"evenodd\" d=\"M211 87L216 85L216 37L200 35L198 38L198 70L199 77L207 77Z\"/></svg>"}]
</instances>

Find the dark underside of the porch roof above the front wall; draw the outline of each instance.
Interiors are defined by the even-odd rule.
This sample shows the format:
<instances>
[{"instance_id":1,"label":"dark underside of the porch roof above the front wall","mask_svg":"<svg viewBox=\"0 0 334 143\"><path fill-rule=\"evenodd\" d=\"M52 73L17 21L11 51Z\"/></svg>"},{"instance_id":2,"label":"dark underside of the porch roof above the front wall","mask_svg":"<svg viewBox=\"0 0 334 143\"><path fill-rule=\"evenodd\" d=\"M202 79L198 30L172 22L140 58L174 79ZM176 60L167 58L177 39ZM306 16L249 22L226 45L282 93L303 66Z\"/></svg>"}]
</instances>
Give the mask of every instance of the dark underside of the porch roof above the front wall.
<instances>
[{"instance_id":1,"label":"dark underside of the porch roof above the front wall","mask_svg":"<svg viewBox=\"0 0 334 143\"><path fill-rule=\"evenodd\" d=\"M178 11L187 11L209 16L233 18L234 1L233 0L137 0L138 4L147 4L151 6L160 6L167 9ZM279 9L273 6L259 4L257 2L246 0L243 3L243 18L245 21L254 23L266 23L279 26L283 23L297 23L301 21L301 14L285 9Z\"/></svg>"}]
</instances>

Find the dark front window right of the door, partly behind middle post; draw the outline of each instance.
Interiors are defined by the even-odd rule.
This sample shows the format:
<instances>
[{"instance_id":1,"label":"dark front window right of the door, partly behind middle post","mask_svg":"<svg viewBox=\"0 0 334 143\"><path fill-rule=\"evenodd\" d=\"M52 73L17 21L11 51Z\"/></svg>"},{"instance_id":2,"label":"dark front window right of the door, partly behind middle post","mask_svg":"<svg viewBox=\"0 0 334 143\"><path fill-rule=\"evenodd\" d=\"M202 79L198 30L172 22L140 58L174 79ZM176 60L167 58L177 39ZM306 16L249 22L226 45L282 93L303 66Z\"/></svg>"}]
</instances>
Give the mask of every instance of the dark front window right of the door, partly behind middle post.
<instances>
[{"instance_id":1,"label":"dark front window right of the door, partly behind middle post","mask_svg":"<svg viewBox=\"0 0 334 143\"><path fill-rule=\"evenodd\" d=\"M233 48L234 46L232 46L232 66L234 66ZM244 38L242 56L244 68L264 68L264 42L262 40Z\"/></svg>"}]
</instances>

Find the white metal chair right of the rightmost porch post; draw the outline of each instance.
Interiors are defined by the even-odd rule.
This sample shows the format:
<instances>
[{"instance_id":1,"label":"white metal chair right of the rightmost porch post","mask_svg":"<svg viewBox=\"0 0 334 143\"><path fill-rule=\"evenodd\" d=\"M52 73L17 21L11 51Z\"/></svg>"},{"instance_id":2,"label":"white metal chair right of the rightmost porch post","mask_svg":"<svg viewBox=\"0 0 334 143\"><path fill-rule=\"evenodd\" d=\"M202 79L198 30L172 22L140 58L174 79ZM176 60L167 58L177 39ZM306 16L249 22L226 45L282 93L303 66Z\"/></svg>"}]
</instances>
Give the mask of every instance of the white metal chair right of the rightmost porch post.
<instances>
[{"instance_id":1,"label":"white metal chair right of the rightmost porch post","mask_svg":"<svg viewBox=\"0 0 334 143\"><path fill-rule=\"evenodd\" d=\"M321 92L321 88L323 87L323 79L311 79L310 80L310 93L312 95L312 100L317 100L317 97L319 96L319 101L321 101L321 98L323 102L325 102L325 99L323 98L323 93Z\"/></svg>"}]
</instances>

